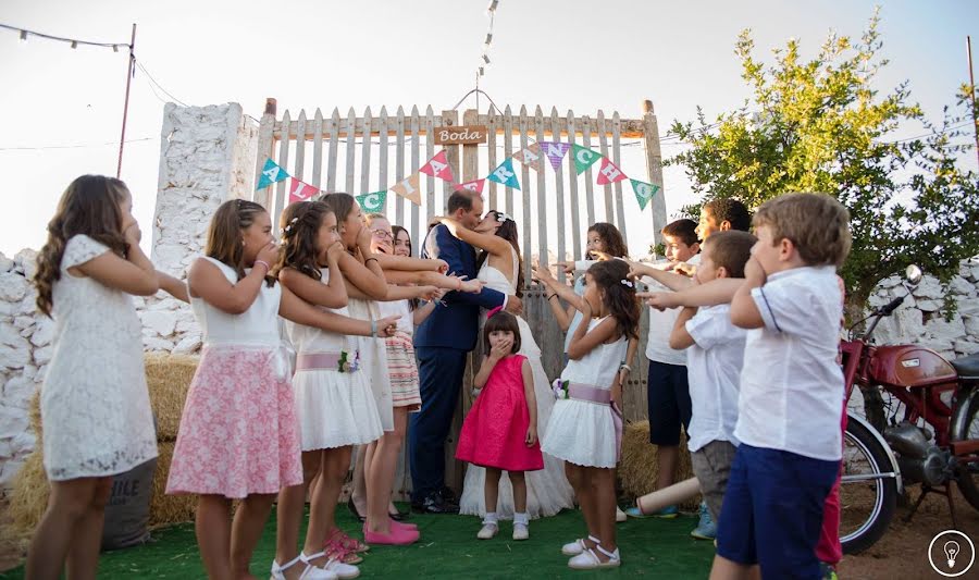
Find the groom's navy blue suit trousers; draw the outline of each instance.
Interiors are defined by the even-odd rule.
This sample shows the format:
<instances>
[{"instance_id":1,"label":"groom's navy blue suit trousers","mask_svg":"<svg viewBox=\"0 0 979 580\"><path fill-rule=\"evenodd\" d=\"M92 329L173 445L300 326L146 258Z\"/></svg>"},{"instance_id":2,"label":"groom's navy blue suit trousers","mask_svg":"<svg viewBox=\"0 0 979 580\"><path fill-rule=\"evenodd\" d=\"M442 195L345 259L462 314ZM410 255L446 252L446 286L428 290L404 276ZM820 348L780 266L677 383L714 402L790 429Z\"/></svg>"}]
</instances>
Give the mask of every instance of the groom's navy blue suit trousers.
<instances>
[{"instance_id":1,"label":"groom's navy blue suit trousers","mask_svg":"<svg viewBox=\"0 0 979 580\"><path fill-rule=\"evenodd\" d=\"M459 406L468 354L436 346L416 349L422 404L411 415L408 430L411 499L416 503L445 485L445 437Z\"/></svg>"}]
</instances>

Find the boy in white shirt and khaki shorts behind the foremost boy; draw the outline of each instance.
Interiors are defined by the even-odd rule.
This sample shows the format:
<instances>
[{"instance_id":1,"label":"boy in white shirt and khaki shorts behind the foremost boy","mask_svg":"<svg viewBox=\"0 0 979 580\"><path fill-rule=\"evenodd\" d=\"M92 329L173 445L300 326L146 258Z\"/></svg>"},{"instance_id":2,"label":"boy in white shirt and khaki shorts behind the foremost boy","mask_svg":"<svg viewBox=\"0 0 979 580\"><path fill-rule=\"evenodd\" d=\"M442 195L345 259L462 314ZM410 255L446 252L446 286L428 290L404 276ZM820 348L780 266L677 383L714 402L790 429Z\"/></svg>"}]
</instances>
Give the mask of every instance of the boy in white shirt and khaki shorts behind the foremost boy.
<instances>
[{"instance_id":1,"label":"boy in white shirt and khaki shorts behind the foremost boy","mask_svg":"<svg viewBox=\"0 0 979 580\"><path fill-rule=\"evenodd\" d=\"M744 279L744 266L757 242L747 232L717 232L701 246L696 281ZM670 334L670 347L686 349L693 416L687 446L694 474L715 522L734 460L738 393L747 331L731 323L730 305L685 307Z\"/></svg>"}]
</instances>

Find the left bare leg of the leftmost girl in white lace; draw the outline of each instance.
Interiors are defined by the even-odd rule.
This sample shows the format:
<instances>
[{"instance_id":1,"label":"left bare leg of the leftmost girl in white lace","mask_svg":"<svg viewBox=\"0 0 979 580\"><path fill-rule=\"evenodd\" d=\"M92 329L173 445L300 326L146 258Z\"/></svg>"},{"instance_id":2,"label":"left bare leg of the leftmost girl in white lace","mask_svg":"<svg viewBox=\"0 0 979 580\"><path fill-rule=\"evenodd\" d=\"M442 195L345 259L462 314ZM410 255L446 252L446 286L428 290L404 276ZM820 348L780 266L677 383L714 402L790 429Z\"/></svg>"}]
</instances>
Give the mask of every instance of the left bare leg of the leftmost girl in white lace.
<instances>
[{"instance_id":1,"label":"left bare leg of the leftmost girl in white lace","mask_svg":"<svg viewBox=\"0 0 979 580\"><path fill-rule=\"evenodd\" d=\"M101 479L80 478L51 482L48 508L34 531L27 552L25 578L48 580L61 577L74 539L73 533L88 514Z\"/></svg>"}]
</instances>

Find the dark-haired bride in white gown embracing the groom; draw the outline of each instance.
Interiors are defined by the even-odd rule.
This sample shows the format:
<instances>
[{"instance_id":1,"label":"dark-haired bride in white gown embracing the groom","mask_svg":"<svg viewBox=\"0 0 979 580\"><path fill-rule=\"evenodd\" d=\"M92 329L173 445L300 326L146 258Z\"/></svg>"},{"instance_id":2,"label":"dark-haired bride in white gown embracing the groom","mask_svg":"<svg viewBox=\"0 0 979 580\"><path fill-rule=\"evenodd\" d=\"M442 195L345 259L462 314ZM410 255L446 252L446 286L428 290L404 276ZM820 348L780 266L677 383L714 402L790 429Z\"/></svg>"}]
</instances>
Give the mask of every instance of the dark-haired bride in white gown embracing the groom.
<instances>
[{"instance_id":1,"label":"dark-haired bride in white gown embracing the groom","mask_svg":"<svg viewBox=\"0 0 979 580\"><path fill-rule=\"evenodd\" d=\"M475 230L467 230L451 218L439 218L449 232L467 244L482 249L478 266L479 280L483 286L504 294L523 294L523 261L520 258L520 246L517 236L517 223L509 215L491 210L483 217ZM482 321L486 320L486 311ZM537 434L544 437L547 420L554 407L554 393L544 367L541 365L541 349L534 341L530 326L521 317L517 317L520 325L520 355L526 357L534 375L534 392L537 398ZM459 501L459 513L463 515L486 514L483 497L483 482L486 470L470 465L466 470L462 497ZM563 508L573 507L572 490L565 477L565 468L560 459L544 454L544 469L526 472L526 513L532 518L553 516ZM496 511L501 519L513 517L513 490L506 473L499 480L499 499Z\"/></svg>"}]
</instances>

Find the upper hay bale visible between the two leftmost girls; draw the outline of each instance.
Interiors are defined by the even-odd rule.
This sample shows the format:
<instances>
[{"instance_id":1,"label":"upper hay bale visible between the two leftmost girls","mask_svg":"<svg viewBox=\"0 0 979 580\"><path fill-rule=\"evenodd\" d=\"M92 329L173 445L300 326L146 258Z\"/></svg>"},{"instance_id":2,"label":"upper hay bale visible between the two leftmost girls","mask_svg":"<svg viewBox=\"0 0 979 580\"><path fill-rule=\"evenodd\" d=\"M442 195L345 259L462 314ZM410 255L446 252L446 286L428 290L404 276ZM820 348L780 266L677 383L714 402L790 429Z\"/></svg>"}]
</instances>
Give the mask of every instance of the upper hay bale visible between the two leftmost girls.
<instances>
[{"instance_id":1,"label":"upper hay bale visible between the two leftmost girls","mask_svg":"<svg viewBox=\"0 0 979 580\"><path fill-rule=\"evenodd\" d=\"M199 360L198 357L189 355L146 356L146 384L149 387L150 406L157 419L157 441L176 441L187 390L190 387L194 373L197 372Z\"/></svg>"}]
</instances>

